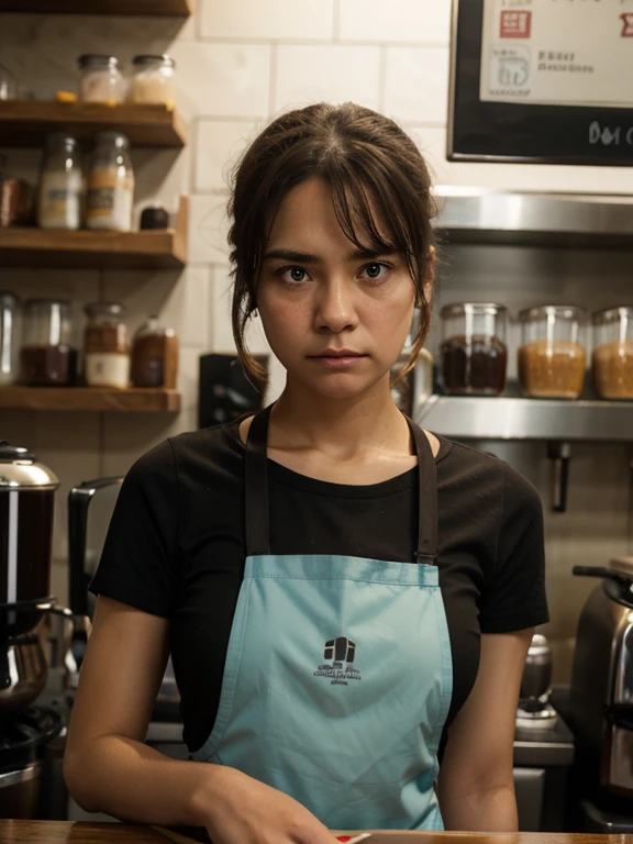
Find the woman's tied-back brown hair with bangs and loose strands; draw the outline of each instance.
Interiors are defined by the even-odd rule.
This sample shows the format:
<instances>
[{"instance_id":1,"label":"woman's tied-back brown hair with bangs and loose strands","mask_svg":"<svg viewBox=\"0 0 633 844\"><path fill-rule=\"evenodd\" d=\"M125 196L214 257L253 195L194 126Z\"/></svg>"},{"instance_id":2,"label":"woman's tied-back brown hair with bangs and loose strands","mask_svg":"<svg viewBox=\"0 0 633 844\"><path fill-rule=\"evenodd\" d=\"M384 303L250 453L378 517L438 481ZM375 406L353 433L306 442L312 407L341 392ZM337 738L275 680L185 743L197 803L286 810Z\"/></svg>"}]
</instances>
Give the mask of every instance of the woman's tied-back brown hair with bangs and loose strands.
<instances>
[{"instance_id":1,"label":"woman's tied-back brown hair with bangs and loose strands","mask_svg":"<svg viewBox=\"0 0 633 844\"><path fill-rule=\"evenodd\" d=\"M262 256L286 193L310 178L323 179L332 190L341 229L355 246L354 220L369 235L370 247L399 251L417 290L419 330L411 356L398 380L415 365L424 344L431 308L424 280L434 243L431 220L436 213L431 178L422 154L397 123L371 109L346 102L321 102L289 111L270 123L235 165L229 201L231 229L232 323L237 354L247 375L265 378L248 353L244 333L256 309ZM380 236L369 198L388 226L390 242Z\"/></svg>"}]
</instances>

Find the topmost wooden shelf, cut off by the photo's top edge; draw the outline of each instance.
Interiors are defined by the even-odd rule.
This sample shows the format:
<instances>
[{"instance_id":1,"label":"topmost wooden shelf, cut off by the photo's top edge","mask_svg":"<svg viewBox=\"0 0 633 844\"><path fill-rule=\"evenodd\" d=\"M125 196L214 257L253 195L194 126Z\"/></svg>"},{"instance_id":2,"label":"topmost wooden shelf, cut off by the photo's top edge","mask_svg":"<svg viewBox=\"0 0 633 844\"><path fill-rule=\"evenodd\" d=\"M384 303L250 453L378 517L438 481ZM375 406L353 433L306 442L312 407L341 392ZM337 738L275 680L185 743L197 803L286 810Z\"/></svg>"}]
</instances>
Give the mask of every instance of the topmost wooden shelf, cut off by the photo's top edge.
<instances>
[{"instance_id":1,"label":"topmost wooden shelf, cut off by the photo's top edge","mask_svg":"<svg viewBox=\"0 0 633 844\"><path fill-rule=\"evenodd\" d=\"M193 0L0 0L0 12L188 18Z\"/></svg>"}]
</instances>

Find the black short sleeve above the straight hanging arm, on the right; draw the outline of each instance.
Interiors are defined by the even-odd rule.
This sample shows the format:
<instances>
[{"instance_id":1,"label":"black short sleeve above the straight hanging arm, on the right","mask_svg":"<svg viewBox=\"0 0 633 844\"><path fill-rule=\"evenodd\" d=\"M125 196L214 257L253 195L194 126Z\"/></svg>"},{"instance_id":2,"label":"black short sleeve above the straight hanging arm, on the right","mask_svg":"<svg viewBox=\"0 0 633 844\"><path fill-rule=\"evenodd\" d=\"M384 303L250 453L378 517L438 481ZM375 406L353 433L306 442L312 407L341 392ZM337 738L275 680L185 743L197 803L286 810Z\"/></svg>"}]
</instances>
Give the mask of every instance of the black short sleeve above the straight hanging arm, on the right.
<instances>
[{"instance_id":1,"label":"black short sleeve above the straight hanging arm, on the right","mask_svg":"<svg viewBox=\"0 0 633 844\"><path fill-rule=\"evenodd\" d=\"M479 608L482 633L510 633L549 621L541 498L522 475L502 466L497 562Z\"/></svg>"}]
</instances>

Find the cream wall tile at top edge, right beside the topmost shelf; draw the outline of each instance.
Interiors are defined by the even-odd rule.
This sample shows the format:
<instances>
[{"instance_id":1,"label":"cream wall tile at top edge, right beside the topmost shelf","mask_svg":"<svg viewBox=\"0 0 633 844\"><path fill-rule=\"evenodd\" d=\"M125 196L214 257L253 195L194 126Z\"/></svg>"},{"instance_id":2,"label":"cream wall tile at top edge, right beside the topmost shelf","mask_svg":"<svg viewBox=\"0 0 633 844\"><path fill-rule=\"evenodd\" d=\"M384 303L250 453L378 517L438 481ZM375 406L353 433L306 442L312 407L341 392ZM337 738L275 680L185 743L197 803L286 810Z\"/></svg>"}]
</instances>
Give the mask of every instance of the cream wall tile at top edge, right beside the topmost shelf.
<instances>
[{"instance_id":1,"label":"cream wall tile at top edge, right beside the topmost shelf","mask_svg":"<svg viewBox=\"0 0 633 844\"><path fill-rule=\"evenodd\" d=\"M329 40L334 0L202 0L200 33L209 38Z\"/></svg>"}]
</instances>

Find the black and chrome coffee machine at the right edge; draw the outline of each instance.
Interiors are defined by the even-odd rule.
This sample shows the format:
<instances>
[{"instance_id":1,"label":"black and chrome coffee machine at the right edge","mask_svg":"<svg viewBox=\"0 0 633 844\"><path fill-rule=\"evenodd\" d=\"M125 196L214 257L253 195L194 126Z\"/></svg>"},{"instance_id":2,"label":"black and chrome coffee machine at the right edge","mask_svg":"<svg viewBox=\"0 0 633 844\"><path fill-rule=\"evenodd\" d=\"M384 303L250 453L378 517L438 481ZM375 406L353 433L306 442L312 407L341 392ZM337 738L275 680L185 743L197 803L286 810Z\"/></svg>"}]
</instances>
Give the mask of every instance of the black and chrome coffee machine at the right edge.
<instances>
[{"instance_id":1,"label":"black and chrome coffee machine at the right edge","mask_svg":"<svg viewBox=\"0 0 633 844\"><path fill-rule=\"evenodd\" d=\"M633 557L574 574L602 580L578 621L569 698L582 831L633 833Z\"/></svg>"}]
</instances>

